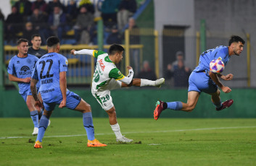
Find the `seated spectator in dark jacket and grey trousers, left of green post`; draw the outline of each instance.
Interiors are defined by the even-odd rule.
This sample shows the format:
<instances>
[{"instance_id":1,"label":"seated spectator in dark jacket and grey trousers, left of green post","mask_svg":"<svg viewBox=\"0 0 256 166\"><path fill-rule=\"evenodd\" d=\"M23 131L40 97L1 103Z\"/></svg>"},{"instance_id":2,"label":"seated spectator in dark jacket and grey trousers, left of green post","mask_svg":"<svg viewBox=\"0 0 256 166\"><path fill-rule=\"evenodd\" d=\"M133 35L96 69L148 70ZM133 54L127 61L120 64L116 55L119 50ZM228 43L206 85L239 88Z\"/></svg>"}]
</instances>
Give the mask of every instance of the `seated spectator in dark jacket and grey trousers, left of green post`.
<instances>
[{"instance_id":1,"label":"seated spectator in dark jacket and grey trousers, left of green post","mask_svg":"<svg viewBox=\"0 0 256 166\"><path fill-rule=\"evenodd\" d=\"M90 30L94 24L94 16L87 11L85 6L80 8L80 14L74 26L75 40L80 44L90 43Z\"/></svg>"}]
</instances>

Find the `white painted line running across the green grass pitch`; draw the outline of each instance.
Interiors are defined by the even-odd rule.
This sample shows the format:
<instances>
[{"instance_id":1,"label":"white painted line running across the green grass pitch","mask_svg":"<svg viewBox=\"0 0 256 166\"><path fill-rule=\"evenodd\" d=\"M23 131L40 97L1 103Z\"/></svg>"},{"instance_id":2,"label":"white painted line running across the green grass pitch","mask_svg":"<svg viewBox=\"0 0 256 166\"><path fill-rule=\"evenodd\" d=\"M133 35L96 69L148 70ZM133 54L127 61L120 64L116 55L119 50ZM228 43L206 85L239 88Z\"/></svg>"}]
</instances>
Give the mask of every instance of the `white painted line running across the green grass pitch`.
<instances>
[{"instance_id":1,"label":"white painted line running across the green grass pitch","mask_svg":"<svg viewBox=\"0 0 256 166\"><path fill-rule=\"evenodd\" d=\"M123 134L143 134L143 133L168 133L168 132L181 132L181 131L204 131L204 130L220 130L220 129L236 129L236 128L256 128L256 126L236 126L236 127L220 127L220 128L194 128L194 129L183 129L183 130L168 130L168 131L136 131L136 132L125 132ZM107 134L95 134L99 135L112 135L113 133ZM66 136L44 136L48 138L53 137L72 137L72 136L86 136L86 134L78 134L78 135L66 135ZM0 139L27 139L33 136L5 136L0 137Z\"/></svg>"}]
</instances>

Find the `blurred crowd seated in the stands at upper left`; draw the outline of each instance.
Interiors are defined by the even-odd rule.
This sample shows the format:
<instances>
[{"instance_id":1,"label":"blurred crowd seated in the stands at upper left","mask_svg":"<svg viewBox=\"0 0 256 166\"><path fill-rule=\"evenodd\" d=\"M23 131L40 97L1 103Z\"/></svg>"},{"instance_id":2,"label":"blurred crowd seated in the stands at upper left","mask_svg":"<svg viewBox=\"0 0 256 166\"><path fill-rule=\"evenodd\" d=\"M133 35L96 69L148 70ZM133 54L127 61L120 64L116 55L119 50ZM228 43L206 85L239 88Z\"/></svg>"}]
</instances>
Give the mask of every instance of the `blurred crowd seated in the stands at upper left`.
<instances>
[{"instance_id":1,"label":"blurred crowd seated in the stands at upper left","mask_svg":"<svg viewBox=\"0 0 256 166\"><path fill-rule=\"evenodd\" d=\"M67 4L59 0L19 0L12 6L12 13L6 19L0 10L0 19L4 20L5 44L13 45L19 38L30 40L35 33L41 35L42 45L51 35L56 35L60 40L73 39L72 44L96 44L95 9L96 4L90 0L70 0ZM102 1L100 16L107 37L110 35L110 39L105 39L105 44L122 43L123 32L131 29L128 22L136 10L136 0Z\"/></svg>"}]
</instances>

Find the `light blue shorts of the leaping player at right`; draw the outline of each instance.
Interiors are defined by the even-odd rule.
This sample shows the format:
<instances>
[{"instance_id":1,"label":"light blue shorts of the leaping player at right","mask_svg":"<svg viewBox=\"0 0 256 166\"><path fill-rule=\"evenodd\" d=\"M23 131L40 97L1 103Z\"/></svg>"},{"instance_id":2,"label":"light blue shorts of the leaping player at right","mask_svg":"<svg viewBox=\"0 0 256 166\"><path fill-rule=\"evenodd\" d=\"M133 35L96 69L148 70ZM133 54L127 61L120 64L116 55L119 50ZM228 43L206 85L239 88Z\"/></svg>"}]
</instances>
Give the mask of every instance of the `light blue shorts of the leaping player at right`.
<instances>
[{"instance_id":1,"label":"light blue shorts of the leaping player at right","mask_svg":"<svg viewBox=\"0 0 256 166\"><path fill-rule=\"evenodd\" d=\"M218 90L217 84L204 72L192 71L189 77L189 92L197 91L199 93L214 93Z\"/></svg>"}]
</instances>

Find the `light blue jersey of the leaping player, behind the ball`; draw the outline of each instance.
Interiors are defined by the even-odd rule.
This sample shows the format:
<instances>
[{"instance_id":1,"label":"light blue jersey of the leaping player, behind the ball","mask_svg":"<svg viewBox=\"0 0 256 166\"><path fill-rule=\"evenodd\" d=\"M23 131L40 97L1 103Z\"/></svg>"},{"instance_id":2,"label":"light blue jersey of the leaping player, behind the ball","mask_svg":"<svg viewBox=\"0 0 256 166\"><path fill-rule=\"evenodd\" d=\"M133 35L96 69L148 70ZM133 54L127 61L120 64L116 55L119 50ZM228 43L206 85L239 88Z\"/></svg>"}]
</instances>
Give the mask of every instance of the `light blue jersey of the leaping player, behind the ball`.
<instances>
[{"instance_id":1,"label":"light blue jersey of the leaping player, behind the ball","mask_svg":"<svg viewBox=\"0 0 256 166\"><path fill-rule=\"evenodd\" d=\"M210 50L203 52L200 55L199 64L196 67L196 69L194 69L194 71L205 71L206 73L208 73L208 71L210 71L210 61L214 59L220 59L226 66L226 64L229 61L229 58L230 56L228 55L228 47L220 45L216 48L212 48Z\"/></svg>"}]
</instances>

